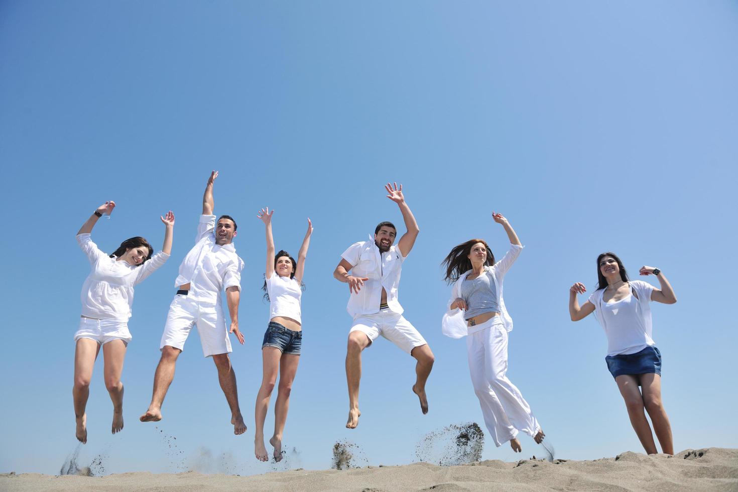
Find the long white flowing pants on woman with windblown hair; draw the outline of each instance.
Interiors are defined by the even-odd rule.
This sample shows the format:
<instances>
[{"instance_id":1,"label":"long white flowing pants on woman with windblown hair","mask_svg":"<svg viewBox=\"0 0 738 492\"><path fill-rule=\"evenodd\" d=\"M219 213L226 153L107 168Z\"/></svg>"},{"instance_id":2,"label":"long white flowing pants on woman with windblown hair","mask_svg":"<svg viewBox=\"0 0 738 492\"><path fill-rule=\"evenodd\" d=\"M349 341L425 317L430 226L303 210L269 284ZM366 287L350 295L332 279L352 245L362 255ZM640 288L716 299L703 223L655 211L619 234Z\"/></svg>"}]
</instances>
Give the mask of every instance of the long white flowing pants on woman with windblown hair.
<instances>
[{"instance_id":1,"label":"long white flowing pants on woman with windblown hair","mask_svg":"<svg viewBox=\"0 0 738 492\"><path fill-rule=\"evenodd\" d=\"M531 437L541 429L531 407L507 373L508 333L500 316L494 316L473 328L466 337L469 372L474 392L482 407L484 423L499 447L517 436L518 431Z\"/></svg>"}]
</instances>

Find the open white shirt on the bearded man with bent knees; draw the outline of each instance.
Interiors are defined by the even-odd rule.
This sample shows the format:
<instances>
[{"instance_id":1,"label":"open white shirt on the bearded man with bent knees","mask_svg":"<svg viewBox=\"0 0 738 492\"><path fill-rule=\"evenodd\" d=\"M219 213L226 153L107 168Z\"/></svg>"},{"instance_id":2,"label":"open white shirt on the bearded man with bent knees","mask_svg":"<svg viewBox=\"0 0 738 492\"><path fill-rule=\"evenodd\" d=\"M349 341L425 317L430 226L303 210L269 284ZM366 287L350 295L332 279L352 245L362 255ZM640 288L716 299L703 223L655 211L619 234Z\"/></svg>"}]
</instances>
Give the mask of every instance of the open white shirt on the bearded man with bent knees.
<instances>
[{"instance_id":1,"label":"open white shirt on the bearded man with bent knees","mask_svg":"<svg viewBox=\"0 0 738 492\"><path fill-rule=\"evenodd\" d=\"M390 311L402 314L402 306L397 300L397 288L400 285L400 273L405 257L396 244L390 246L390 250L386 253L380 254L374 238L369 235L368 241L352 244L341 257L354 266L351 268L351 275L369 279L365 280L359 294L352 292L348 298L346 311L351 316L356 318L363 314L379 313L382 288L387 292L387 305Z\"/></svg>"}]
</instances>

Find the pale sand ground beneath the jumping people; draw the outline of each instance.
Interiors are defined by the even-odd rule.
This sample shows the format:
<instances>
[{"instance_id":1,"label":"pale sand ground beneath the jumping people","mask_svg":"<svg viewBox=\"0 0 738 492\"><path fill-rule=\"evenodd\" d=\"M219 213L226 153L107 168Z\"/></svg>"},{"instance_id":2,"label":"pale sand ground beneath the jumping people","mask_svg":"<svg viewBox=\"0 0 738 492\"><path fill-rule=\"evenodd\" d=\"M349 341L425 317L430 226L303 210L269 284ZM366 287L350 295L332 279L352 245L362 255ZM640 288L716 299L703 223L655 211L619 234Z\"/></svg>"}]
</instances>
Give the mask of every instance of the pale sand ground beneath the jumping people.
<instances>
[{"instance_id":1,"label":"pale sand ground beneath the jumping people","mask_svg":"<svg viewBox=\"0 0 738 492\"><path fill-rule=\"evenodd\" d=\"M281 471L252 477L150 474L52 477L1 474L2 491L738 491L738 449L687 449L674 457L625 452L593 461L418 462L349 470Z\"/></svg>"}]
</instances>

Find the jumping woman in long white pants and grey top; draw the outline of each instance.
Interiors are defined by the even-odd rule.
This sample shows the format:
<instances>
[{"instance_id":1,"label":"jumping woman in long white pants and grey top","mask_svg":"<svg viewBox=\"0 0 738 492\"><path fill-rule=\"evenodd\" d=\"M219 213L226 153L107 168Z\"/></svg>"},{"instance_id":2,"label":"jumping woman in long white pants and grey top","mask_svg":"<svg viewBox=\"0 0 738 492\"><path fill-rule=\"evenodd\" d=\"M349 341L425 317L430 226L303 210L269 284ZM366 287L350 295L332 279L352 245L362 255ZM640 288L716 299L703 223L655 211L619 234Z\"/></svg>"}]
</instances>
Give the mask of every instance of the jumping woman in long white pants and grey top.
<instances>
[{"instance_id":1,"label":"jumping woman in long white pants and grey top","mask_svg":"<svg viewBox=\"0 0 738 492\"><path fill-rule=\"evenodd\" d=\"M545 436L520 389L506 375L512 319L503 300L503 280L523 245L502 214L492 212L492 218L505 229L510 250L497 263L482 239L468 240L451 250L444 265L446 282L453 283L453 288L442 330L452 338L466 336L472 384L495 446L509 441L513 451L520 452L518 432L530 435L536 443Z\"/></svg>"}]
</instances>

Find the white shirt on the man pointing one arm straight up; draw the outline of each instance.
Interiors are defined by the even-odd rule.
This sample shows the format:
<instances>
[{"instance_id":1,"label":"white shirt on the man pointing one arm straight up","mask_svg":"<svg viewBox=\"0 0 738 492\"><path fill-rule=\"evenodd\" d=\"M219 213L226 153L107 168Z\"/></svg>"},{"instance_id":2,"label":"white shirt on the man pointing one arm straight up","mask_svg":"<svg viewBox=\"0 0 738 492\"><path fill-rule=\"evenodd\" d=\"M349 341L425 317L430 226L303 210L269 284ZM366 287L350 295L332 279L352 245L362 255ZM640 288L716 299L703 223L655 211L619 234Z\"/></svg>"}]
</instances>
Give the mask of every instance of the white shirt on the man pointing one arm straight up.
<instances>
[{"instance_id":1,"label":"white shirt on the man pointing one arm straight up","mask_svg":"<svg viewBox=\"0 0 738 492\"><path fill-rule=\"evenodd\" d=\"M189 283L187 297L205 302L220 302L221 290L229 287L240 291L244 260L235 254L232 243L215 244L215 215L200 216L195 243L179 265L174 286Z\"/></svg>"}]
</instances>

